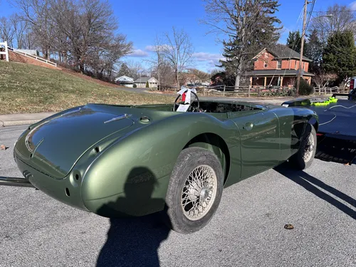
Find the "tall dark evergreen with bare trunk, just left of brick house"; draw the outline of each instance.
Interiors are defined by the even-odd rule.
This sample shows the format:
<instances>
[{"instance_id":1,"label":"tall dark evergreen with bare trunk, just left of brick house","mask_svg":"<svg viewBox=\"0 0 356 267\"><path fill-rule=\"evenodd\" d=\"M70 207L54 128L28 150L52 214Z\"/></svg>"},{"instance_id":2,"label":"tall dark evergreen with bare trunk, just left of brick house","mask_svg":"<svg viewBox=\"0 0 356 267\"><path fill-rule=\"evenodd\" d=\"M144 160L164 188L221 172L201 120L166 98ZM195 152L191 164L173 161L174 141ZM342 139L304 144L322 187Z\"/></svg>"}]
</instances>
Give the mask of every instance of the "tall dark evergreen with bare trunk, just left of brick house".
<instances>
[{"instance_id":1,"label":"tall dark evergreen with bare trunk, just left of brick house","mask_svg":"<svg viewBox=\"0 0 356 267\"><path fill-rule=\"evenodd\" d=\"M235 86L239 87L240 75L248 69L253 56L279 39L281 28L276 24L281 21L274 14L280 5L278 0L209 1L212 16L229 16L227 22L224 20L228 24L225 33L229 34L229 40L223 41L226 60L220 61L219 67L234 75Z\"/></svg>"}]
</instances>

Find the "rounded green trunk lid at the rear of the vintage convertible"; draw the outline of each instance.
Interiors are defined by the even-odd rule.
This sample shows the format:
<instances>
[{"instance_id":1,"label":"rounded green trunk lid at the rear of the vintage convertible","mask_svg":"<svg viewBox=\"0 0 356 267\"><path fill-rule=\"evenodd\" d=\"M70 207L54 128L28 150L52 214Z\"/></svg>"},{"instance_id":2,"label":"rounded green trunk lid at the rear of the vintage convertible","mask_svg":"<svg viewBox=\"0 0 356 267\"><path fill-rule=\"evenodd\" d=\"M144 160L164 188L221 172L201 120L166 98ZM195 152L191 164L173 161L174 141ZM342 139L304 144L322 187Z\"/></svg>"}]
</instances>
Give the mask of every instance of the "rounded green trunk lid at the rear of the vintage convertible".
<instances>
[{"instance_id":1,"label":"rounded green trunk lid at the rear of the vintage convertible","mask_svg":"<svg viewBox=\"0 0 356 267\"><path fill-rule=\"evenodd\" d=\"M133 124L125 113L76 108L31 125L16 142L16 155L53 178L63 178L95 143Z\"/></svg>"}]
</instances>

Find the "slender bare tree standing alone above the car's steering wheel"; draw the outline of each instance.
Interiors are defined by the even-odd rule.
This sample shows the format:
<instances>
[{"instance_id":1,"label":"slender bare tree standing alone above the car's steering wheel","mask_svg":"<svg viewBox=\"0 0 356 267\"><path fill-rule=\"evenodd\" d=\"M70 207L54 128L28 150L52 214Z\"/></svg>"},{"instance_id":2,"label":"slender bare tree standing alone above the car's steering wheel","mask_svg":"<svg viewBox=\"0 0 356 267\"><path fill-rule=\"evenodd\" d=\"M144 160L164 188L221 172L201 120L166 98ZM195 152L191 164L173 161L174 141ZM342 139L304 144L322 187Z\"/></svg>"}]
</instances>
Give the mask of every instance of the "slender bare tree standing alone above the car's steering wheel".
<instances>
[{"instance_id":1,"label":"slender bare tree standing alone above the car's steering wheel","mask_svg":"<svg viewBox=\"0 0 356 267\"><path fill-rule=\"evenodd\" d=\"M162 57L169 62L174 69L175 82L179 89L179 72L186 68L187 64L192 60L193 45L186 32L183 30L177 31L173 27L173 36L169 33L164 33L167 44L162 46Z\"/></svg>"}]
</instances>

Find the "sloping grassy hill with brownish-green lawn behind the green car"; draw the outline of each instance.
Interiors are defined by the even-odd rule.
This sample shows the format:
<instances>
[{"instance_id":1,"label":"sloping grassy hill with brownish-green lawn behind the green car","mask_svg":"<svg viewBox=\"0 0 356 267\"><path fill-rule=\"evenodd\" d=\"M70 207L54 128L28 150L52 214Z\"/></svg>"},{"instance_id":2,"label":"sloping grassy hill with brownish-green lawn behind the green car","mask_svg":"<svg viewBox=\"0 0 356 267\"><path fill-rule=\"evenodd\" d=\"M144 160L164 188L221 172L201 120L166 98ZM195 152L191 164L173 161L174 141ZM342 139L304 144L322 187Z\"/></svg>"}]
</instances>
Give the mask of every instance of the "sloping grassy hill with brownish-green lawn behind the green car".
<instances>
[{"instance_id":1,"label":"sloping grassy hill with brownish-green lawn behind the green car","mask_svg":"<svg viewBox=\"0 0 356 267\"><path fill-rule=\"evenodd\" d=\"M0 114L56 112L86 103L140 105L173 101L164 95L117 90L62 70L0 61Z\"/></svg>"}]
</instances>

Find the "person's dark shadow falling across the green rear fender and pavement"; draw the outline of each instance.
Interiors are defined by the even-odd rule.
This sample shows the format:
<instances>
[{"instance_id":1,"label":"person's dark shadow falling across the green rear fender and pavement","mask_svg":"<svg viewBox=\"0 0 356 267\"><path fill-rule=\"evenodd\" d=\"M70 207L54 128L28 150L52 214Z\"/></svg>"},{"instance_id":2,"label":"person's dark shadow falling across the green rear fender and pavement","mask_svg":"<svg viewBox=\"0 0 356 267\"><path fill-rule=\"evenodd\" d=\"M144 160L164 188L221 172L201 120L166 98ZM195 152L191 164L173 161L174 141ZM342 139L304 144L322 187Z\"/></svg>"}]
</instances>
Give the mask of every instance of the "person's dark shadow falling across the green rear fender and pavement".
<instances>
[{"instance_id":1,"label":"person's dark shadow falling across the green rear fender and pavement","mask_svg":"<svg viewBox=\"0 0 356 267\"><path fill-rule=\"evenodd\" d=\"M125 182L125 197L103 205L99 212L117 207L129 213L137 207L140 212L149 212L162 201L164 203L164 199L152 198L155 186L155 177L150 170L132 169ZM160 215L111 218L108 238L98 256L97 266L159 266L157 250L170 231Z\"/></svg>"}]
</instances>

